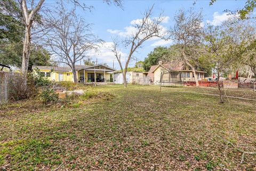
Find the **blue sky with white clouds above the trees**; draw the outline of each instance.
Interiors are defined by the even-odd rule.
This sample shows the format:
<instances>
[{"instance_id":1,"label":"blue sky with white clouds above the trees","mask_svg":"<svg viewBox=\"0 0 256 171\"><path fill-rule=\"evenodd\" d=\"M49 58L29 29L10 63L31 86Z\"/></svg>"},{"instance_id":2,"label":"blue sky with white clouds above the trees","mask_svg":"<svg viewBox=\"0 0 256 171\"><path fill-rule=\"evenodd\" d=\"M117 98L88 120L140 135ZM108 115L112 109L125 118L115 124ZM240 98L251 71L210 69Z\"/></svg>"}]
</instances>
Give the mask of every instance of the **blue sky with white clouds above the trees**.
<instances>
[{"instance_id":1,"label":"blue sky with white clouds above the trees","mask_svg":"<svg viewBox=\"0 0 256 171\"><path fill-rule=\"evenodd\" d=\"M111 44L113 44L113 38L123 39L126 35L129 35L132 30L131 22L133 20L141 19L143 12L149 7L154 5L153 17L157 17L159 13L163 11L165 19L162 26L166 29L170 29L174 25L174 15L177 14L179 9L188 10L190 7L194 7L195 10L203 11L204 25L209 23L211 25L220 25L223 21L227 20L230 15L225 13L225 10L241 9L245 1L221 1L218 0L213 5L209 6L210 0L205 1L123 1L123 9L115 6L114 4L107 5L103 1L84 1L86 5L92 5L94 8L91 12L77 9L77 13L85 18L86 22L92 23L92 31L99 38L103 39L105 43L101 45L98 52L89 52L88 55L98 63L107 63L108 66L119 69L117 60L114 53L111 52ZM147 40L137 52L134 53L137 61L144 60L148 53L154 50L157 46L170 46L172 40L152 39ZM128 53L127 48L121 48L123 63ZM132 60L129 67L133 67L136 60Z\"/></svg>"}]
</instances>

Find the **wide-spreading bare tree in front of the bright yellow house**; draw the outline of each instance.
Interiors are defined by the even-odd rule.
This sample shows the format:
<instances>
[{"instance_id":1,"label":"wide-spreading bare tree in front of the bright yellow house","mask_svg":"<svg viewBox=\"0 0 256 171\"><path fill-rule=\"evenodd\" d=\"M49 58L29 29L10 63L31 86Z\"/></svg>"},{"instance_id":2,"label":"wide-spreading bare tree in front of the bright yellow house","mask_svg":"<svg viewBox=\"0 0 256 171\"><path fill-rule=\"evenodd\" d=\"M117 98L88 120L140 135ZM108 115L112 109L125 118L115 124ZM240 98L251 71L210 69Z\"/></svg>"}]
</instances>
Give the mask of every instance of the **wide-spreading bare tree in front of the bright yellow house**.
<instances>
[{"instance_id":1,"label":"wide-spreading bare tree in front of the bright yellow house","mask_svg":"<svg viewBox=\"0 0 256 171\"><path fill-rule=\"evenodd\" d=\"M68 12L62 3L60 10L51 15L49 22L54 25L44 36L45 45L71 68L74 82L77 83L76 62L83 60L87 51L97 51L102 40L91 33L91 25L78 17L75 9Z\"/></svg>"}]
</instances>

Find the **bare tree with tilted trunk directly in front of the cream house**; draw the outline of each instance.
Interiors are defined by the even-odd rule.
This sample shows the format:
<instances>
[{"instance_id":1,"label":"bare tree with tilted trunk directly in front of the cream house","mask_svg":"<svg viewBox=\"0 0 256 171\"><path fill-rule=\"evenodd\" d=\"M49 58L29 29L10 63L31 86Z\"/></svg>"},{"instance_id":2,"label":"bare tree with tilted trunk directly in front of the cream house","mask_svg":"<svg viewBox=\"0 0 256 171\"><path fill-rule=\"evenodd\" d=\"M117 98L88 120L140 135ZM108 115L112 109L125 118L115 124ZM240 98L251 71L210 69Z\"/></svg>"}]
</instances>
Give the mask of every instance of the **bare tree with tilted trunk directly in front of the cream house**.
<instances>
[{"instance_id":1,"label":"bare tree with tilted trunk directly in front of the cream house","mask_svg":"<svg viewBox=\"0 0 256 171\"><path fill-rule=\"evenodd\" d=\"M203 42L202 11L180 10L174 17L174 27L170 30L175 43L180 46L179 61L186 63L193 71L196 86L199 86L196 74L196 61L201 53Z\"/></svg>"}]
</instances>

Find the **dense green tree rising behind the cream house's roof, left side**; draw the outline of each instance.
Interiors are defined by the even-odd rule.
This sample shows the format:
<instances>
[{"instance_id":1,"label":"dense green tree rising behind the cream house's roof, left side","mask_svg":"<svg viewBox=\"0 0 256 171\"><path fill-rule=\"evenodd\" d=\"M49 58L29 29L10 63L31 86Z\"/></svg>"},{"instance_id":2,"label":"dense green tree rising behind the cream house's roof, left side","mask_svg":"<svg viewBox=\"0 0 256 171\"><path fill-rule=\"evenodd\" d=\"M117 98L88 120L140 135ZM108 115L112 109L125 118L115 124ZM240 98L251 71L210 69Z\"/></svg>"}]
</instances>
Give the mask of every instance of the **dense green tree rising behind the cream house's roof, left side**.
<instances>
[{"instance_id":1,"label":"dense green tree rising behind the cream house's roof, left side","mask_svg":"<svg viewBox=\"0 0 256 171\"><path fill-rule=\"evenodd\" d=\"M158 46L154 48L154 51L148 54L143 63L143 68L145 71L149 71L151 66L158 64L158 61L164 56L168 55L168 48L163 46Z\"/></svg>"}]
</instances>

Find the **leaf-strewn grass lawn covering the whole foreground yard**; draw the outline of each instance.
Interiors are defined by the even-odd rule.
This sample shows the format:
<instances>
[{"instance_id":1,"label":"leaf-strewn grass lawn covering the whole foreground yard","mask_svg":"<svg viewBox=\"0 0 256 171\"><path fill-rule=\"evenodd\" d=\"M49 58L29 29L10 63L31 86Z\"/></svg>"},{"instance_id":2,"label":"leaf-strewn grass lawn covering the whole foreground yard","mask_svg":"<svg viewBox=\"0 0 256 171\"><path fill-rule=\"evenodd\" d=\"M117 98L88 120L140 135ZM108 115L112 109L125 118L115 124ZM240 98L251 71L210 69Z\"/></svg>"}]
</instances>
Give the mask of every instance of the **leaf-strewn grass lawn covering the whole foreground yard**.
<instances>
[{"instance_id":1,"label":"leaf-strewn grass lawn covering the whole foreground yard","mask_svg":"<svg viewBox=\"0 0 256 171\"><path fill-rule=\"evenodd\" d=\"M82 88L115 97L0 108L0 170L256 170L256 154L240 164L238 150L256 152L255 101L229 99L229 108L180 92L216 91L207 88Z\"/></svg>"}]
</instances>

